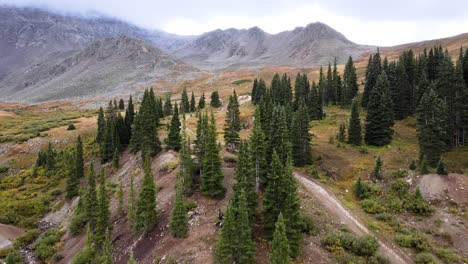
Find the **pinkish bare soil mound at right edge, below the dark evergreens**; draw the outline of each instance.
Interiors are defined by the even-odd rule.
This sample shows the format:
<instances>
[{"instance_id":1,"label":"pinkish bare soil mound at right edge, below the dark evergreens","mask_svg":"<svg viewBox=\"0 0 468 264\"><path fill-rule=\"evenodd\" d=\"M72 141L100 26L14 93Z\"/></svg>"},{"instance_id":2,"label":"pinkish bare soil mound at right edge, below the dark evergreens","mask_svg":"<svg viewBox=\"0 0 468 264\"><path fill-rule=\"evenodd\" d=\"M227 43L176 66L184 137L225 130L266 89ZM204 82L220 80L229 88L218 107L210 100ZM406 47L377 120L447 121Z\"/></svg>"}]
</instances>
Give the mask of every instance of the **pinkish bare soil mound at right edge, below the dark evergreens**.
<instances>
[{"instance_id":1,"label":"pinkish bare soil mound at right edge, below the dark evergreens","mask_svg":"<svg viewBox=\"0 0 468 264\"><path fill-rule=\"evenodd\" d=\"M426 199L464 207L468 205L467 188L468 177L456 173L424 175L419 181L419 189Z\"/></svg>"}]
</instances>

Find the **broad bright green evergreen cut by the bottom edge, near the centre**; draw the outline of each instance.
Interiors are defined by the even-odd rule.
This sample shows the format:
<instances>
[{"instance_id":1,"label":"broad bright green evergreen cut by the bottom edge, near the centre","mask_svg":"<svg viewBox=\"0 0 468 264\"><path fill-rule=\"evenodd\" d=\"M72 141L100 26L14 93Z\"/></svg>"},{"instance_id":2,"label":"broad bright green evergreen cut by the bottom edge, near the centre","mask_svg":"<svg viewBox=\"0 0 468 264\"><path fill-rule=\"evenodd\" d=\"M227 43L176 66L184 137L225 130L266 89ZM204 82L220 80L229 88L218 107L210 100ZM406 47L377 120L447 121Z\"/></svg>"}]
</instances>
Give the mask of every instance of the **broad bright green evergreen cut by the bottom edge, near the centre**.
<instances>
[{"instance_id":1,"label":"broad bright green evergreen cut by the bottom edge, near the centre","mask_svg":"<svg viewBox=\"0 0 468 264\"><path fill-rule=\"evenodd\" d=\"M255 243L249 223L245 193L241 191L237 206L229 203L221 232L216 245L219 263L254 263Z\"/></svg>"}]
</instances>

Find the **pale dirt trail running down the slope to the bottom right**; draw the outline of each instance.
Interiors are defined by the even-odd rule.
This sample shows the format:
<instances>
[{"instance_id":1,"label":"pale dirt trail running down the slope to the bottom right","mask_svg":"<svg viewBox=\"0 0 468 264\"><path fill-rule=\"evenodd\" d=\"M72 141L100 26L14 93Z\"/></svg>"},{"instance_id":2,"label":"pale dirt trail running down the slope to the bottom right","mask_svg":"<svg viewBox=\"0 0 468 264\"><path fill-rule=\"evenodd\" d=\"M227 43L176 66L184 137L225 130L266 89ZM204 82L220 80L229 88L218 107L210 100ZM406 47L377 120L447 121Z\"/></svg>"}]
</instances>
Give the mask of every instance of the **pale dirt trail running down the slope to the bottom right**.
<instances>
[{"instance_id":1,"label":"pale dirt trail running down the slope to the bottom right","mask_svg":"<svg viewBox=\"0 0 468 264\"><path fill-rule=\"evenodd\" d=\"M340 222L348 226L353 232L358 235L372 234L369 229L343 204L333 195L331 192L322 187L319 183L309 178L305 173L294 172L296 179L304 185L304 187L314 195L319 202L333 215L339 218ZM383 241L381 238L376 237L380 244L380 253L388 257L392 263L405 264L413 263L411 257L407 256L397 248L394 248L387 241Z\"/></svg>"}]
</instances>

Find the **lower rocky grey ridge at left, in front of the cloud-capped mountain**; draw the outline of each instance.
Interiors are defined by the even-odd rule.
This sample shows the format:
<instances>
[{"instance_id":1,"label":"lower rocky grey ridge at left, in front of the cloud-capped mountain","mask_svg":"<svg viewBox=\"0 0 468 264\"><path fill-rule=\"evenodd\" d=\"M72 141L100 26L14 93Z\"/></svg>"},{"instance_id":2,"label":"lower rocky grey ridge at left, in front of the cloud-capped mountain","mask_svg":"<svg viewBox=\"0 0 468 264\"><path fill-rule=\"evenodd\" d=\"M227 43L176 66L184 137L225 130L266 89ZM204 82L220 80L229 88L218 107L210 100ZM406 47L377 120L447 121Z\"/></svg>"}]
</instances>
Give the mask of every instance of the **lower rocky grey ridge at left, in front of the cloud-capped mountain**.
<instances>
[{"instance_id":1,"label":"lower rocky grey ridge at left, in front of the cloud-capped mountain","mask_svg":"<svg viewBox=\"0 0 468 264\"><path fill-rule=\"evenodd\" d=\"M120 36L50 55L0 82L4 100L43 102L112 97L154 80L194 78L198 69L142 40Z\"/></svg>"}]
</instances>

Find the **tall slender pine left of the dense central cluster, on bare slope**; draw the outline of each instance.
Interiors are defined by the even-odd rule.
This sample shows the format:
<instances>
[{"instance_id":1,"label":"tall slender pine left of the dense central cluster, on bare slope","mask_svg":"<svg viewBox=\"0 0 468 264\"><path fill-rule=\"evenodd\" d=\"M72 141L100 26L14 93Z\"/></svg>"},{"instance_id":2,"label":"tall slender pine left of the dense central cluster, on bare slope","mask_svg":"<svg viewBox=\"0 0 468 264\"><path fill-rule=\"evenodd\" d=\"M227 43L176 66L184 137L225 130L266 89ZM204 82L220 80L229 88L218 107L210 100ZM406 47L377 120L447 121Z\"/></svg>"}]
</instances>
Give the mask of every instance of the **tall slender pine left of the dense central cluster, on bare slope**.
<instances>
[{"instance_id":1,"label":"tall slender pine left of the dense central cluster, on bare slope","mask_svg":"<svg viewBox=\"0 0 468 264\"><path fill-rule=\"evenodd\" d=\"M216 121L213 112L207 130L203 172L201 174L200 190L203 195L220 199L224 197L226 188L223 185L224 175L221 170L221 157L216 141Z\"/></svg>"}]
</instances>

